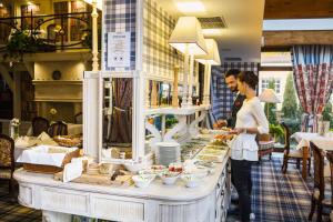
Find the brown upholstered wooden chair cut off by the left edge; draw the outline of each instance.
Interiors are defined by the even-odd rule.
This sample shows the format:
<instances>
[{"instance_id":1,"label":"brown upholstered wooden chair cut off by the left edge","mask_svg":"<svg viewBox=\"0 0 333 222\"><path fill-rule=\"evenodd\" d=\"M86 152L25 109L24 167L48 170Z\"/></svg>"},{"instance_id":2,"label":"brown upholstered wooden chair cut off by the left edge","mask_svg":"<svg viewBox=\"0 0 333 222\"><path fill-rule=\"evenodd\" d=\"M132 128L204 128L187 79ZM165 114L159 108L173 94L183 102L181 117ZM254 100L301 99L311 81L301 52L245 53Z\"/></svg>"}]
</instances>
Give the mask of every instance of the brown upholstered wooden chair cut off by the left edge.
<instances>
[{"instance_id":1,"label":"brown upholstered wooden chair cut off by the left edge","mask_svg":"<svg viewBox=\"0 0 333 222\"><path fill-rule=\"evenodd\" d=\"M9 193L13 195L14 141L0 134L0 179L9 181Z\"/></svg>"}]
</instances>

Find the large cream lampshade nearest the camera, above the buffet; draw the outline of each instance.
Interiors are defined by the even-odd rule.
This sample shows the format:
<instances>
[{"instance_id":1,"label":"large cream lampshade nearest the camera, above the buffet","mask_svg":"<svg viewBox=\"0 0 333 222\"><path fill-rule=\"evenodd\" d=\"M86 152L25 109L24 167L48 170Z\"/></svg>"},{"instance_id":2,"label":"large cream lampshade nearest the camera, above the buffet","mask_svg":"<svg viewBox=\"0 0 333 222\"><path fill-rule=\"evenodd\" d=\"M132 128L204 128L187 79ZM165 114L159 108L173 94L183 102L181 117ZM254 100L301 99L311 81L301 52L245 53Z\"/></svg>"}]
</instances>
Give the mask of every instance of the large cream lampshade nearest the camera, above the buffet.
<instances>
[{"instance_id":1,"label":"large cream lampshade nearest the camera, above the buffet","mask_svg":"<svg viewBox=\"0 0 333 222\"><path fill-rule=\"evenodd\" d=\"M206 54L205 41L202 34L201 24L195 17L180 17L169 39L169 44L189 54Z\"/></svg>"}]
</instances>

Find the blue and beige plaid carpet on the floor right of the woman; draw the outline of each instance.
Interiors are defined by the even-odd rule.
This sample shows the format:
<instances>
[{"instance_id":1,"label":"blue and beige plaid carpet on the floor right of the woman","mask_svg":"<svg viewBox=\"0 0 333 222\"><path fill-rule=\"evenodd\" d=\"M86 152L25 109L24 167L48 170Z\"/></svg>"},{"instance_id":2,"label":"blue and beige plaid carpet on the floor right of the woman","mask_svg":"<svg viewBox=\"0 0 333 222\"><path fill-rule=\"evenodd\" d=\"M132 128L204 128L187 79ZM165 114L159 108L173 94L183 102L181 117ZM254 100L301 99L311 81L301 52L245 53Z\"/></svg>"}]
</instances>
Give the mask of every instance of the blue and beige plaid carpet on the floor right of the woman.
<instances>
[{"instance_id":1,"label":"blue and beige plaid carpet on the floor right of the woman","mask_svg":"<svg viewBox=\"0 0 333 222\"><path fill-rule=\"evenodd\" d=\"M313 176L302 179L295 164L289 164L287 172L281 172L283 158L274 153L272 160L263 159L252 165L252 212L259 222L302 222L307 221L311 209ZM234 209L234 205L232 205ZM313 221L316 213L313 215ZM229 215L226 221L238 218ZM323 221L327 221L323 216Z\"/></svg>"}]
</instances>

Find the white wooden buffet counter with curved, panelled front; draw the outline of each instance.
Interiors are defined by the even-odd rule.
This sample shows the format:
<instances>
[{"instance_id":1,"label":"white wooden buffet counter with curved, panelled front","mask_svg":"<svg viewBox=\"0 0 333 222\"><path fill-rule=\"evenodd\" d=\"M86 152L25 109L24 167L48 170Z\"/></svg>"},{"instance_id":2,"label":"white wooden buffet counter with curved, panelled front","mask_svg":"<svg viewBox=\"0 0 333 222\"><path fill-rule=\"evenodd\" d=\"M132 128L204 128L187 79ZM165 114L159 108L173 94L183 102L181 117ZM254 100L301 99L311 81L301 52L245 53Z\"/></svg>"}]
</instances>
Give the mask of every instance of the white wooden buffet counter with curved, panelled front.
<instances>
[{"instance_id":1,"label":"white wooden buffet counter with curved, panelled front","mask_svg":"<svg viewBox=\"0 0 333 222\"><path fill-rule=\"evenodd\" d=\"M196 188L163 185L155 180L140 189L62 183L53 175L14 172L19 202L43 211L43 221L67 222L71 214L114 221L216 222L224 221L230 200L229 153L214 173Z\"/></svg>"}]
</instances>

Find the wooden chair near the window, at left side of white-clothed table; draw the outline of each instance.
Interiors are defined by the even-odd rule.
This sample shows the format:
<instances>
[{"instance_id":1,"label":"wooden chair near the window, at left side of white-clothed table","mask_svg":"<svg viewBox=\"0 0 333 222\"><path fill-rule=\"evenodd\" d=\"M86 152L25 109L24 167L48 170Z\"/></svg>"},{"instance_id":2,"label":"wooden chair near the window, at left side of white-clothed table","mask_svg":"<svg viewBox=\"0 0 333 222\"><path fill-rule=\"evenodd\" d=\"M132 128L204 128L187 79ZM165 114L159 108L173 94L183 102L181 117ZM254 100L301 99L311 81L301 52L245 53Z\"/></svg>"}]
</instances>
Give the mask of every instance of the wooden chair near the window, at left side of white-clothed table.
<instances>
[{"instance_id":1,"label":"wooden chair near the window, at left side of white-clothed table","mask_svg":"<svg viewBox=\"0 0 333 222\"><path fill-rule=\"evenodd\" d=\"M282 164L282 172L286 173L287 163L295 163L297 169L300 169L300 162L303 160L303 151L302 150L291 150L290 149L290 130L287 125L282 122L281 123L284 130L284 151L283 151L283 164ZM307 160L307 171L310 174L311 170L311 154L306 157Z\"/></svg>"}]
</instances>

